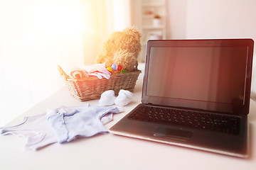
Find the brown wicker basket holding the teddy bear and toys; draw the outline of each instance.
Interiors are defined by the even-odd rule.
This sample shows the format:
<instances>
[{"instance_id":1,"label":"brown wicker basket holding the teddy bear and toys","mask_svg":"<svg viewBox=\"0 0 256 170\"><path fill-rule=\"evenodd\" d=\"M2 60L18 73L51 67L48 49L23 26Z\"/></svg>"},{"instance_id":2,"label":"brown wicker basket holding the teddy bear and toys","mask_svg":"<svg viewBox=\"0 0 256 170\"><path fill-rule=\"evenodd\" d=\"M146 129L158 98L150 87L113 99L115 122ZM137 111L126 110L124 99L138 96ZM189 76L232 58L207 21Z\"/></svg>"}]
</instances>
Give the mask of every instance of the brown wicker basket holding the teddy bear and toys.
<instances>
[{"instance_id":1,"label":"brown wicker basket holding the teddy bear and toys","mask_svg":"<svg viewBox=\"0 0 256 170\"><path fill-rule=\"evenodd\" d=\"M69 77L58 65L60 76L63 77L68 86L70 94L80 101L89 101L100 98L100 95L107 90L114 90L118 94L120 89L134 91L134 86L138 79L140 70L123 74L112 74L110 79L99 79L97 77L87 77L85 79L74 79Z\"/></svg>"}]
</instances>

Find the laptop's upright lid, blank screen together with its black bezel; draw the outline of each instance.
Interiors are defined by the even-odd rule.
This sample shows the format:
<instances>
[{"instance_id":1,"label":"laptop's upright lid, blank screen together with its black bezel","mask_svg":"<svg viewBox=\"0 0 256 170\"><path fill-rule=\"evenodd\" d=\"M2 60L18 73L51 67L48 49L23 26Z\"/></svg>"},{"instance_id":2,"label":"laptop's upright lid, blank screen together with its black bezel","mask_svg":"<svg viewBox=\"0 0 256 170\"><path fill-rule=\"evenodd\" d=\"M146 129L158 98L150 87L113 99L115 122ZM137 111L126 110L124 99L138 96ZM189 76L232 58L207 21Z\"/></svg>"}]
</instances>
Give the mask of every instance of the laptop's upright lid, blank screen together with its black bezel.
<instances>
[{"instance_id":1,"label":"laptop's upright lid, blank screen together with its black bezel","mask_svg":"<svg viewBox=\"0 0 256 170\"><path fill-rule=\"evenodd\" d=\"M176 41L149 41L147 103L247 114L252 46L237 40Z\"/></svg>"}]
</instances>

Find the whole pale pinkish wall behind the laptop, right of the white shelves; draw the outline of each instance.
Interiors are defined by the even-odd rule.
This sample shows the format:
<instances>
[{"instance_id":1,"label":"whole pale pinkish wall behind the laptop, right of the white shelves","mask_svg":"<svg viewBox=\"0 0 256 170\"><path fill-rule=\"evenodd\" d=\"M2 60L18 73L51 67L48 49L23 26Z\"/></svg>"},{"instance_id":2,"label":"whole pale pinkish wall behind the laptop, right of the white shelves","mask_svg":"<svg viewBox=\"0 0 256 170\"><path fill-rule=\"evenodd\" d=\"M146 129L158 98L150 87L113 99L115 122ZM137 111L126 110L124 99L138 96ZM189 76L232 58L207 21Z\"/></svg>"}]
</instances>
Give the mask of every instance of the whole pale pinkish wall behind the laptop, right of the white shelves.
<instances>
[{"instance_id":1,"label":"whole pale pinkish wall behind the laptop, right of the white shelves","mask_svg":"<svg viewBox=\"0 0 256 170\"><path fill-rule=\"evenodd\" d=\"M252 38L256 41L255 0L168 0L169 39ZM256 94L256 61L252 97Z\"/></svg>"}]
</instances>

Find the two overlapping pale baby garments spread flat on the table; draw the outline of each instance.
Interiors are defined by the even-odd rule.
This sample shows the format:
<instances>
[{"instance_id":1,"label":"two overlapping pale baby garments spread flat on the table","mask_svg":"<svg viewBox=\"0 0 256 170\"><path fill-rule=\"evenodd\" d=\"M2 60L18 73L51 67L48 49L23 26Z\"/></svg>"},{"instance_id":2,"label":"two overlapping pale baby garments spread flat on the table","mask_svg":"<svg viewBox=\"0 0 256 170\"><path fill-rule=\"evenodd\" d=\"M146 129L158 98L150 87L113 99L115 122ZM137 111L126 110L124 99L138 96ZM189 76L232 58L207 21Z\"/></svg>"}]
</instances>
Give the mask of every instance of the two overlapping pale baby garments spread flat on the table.
<instances>
[{"instance_id":1,"label":"two overlapping pale baby garments spread flat on the table","mask_svg":"<svg viewBox=\"0 0 256 170\"><path fill-rule=\"evenodd\" d=\"M112 113L119 113L115 107L90 106L48 109L47 114L24 118L23 123L0 128L1 135L16 135L26 139L25 149L37 150L55 142L69 142L76 137L90 137L107 133L102 123L112 120ZM102 122L101 122L102 121Z\"/></svg>"}]
</instances>

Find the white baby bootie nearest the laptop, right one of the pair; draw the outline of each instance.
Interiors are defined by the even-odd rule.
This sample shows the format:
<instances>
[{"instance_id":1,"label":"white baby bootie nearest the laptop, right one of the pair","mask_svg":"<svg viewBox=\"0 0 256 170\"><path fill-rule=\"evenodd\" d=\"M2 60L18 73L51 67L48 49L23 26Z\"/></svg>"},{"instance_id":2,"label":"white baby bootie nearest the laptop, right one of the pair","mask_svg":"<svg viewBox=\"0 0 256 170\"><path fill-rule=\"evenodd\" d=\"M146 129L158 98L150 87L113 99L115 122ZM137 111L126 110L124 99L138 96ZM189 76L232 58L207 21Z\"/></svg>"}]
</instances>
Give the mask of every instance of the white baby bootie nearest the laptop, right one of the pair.
<instances>
[{"instance_id":1,"label":"white baby bootie nearest the laptop, right one of the pair","mask_svg":"<svg viewBox=\"0 0 256 170\"><path fill-rule=\"evenodd\" d=\"M132 101L132 92L121 89L114 103L118 106L126 106Z\"/></svg>"}]
</instances>

